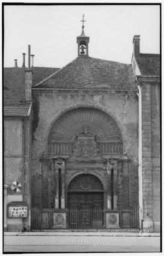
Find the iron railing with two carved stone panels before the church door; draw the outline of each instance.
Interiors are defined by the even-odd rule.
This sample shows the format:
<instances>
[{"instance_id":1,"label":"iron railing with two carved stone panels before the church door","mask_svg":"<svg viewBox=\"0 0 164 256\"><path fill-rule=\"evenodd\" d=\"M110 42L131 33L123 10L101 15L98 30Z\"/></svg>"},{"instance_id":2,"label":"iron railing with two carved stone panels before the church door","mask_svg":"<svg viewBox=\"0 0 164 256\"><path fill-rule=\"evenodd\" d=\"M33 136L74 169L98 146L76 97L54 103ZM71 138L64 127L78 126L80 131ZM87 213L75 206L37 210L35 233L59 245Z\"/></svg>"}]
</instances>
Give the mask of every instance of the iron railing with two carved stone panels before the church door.
<instances>
[{"instance_id":1,"label":"iron railing with two carved stone panels before the church door","mask_svg":"<svg viewBox=\"0 0 164 256\"><path fill-rule=\"evenodd\" d=\"M139 228L139 209L31 209L31 229Z\"/></svg>"}]
</instances>

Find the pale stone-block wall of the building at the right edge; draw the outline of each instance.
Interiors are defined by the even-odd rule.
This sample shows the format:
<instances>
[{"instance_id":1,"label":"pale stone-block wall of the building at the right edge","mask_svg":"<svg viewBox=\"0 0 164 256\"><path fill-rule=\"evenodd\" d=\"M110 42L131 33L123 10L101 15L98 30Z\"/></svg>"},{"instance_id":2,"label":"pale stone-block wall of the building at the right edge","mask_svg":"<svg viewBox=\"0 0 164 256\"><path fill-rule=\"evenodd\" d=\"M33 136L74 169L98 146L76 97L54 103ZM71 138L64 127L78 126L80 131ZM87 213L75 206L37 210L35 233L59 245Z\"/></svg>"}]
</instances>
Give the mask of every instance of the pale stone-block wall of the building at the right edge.
<instances>
[{"instance_id":1,"label":"pale stone-block wall of the building at the right edge","mask_svg":"<svg viewBox=\"0 0 164 256\"><path fill-rule=\"evenodd\" d=\"M151 232L159 232L160 87L153 80L142 83L142 163L143 225Z\"/></svg>"}]
</instances>

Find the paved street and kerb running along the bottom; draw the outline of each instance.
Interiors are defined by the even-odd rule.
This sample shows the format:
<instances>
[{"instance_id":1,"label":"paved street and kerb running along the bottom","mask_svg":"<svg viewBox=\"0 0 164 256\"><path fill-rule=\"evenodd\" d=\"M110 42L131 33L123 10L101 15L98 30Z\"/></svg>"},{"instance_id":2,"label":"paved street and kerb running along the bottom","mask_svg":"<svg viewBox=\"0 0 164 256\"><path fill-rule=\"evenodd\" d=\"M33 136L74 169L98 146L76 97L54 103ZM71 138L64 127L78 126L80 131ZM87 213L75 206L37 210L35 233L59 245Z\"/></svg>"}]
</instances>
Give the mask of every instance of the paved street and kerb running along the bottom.
<instances>
[{"instance_id":1,"label":"paved street and kerb running along the bottom","mask_svg":"<svg viewBox=\"0 0 164 256\"><path fill-rule=\"evenodd\" d=\"M5 232L4 252L160 252L160 233Z\"/></svg>"}]
</instances>

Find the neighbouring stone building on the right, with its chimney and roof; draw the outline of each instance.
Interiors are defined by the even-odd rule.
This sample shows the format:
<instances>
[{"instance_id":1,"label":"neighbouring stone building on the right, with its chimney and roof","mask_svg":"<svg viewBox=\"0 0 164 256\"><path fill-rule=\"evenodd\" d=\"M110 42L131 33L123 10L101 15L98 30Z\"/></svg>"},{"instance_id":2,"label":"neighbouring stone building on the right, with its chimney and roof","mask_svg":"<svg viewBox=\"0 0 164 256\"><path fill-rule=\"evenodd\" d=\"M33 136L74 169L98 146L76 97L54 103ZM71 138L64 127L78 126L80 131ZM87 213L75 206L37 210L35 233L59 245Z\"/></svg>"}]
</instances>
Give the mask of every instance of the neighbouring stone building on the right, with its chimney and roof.
<instances>
[{"instance_id":1,"label":"neighbouring stone building on the right, with its chimney and roof","mask_svg":"<svg viewBox=\"0 0 164 256\"><path fill-rule=\"evenodd\" d=\"M140 54L133 39L133 71L139 90L139 204L143 228L160 231L160 55Z\"/></svg>"}]
</instances>

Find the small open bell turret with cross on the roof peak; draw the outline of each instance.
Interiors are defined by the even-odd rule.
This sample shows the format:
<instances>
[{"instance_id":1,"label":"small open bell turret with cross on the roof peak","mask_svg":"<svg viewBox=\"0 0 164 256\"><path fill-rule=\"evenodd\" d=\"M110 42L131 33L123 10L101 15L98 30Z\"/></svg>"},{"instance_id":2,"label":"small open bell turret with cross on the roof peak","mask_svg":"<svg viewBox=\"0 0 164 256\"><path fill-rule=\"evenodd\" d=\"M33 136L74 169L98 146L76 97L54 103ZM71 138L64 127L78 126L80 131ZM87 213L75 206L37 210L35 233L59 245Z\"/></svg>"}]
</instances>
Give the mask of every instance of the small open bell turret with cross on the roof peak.
<instances>
[{"instance_id":1,"label":"small open bell turret with cross on the roof peak","mask_svg":"<svg viewBox=\"0 0 164 256\"><path fill-rule=\"evenodd\" d=\"M85 36L84 33L84 22L86 20L84 20L84 14L83 14L83 19L81 20L82 22L82 34L77 37L77 53L78 53L78 57L82 56L89 56L88 55L88 43L90 42L90 37Z\"/></svg>"}]
</instances>

